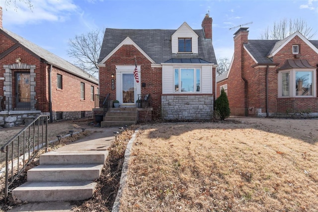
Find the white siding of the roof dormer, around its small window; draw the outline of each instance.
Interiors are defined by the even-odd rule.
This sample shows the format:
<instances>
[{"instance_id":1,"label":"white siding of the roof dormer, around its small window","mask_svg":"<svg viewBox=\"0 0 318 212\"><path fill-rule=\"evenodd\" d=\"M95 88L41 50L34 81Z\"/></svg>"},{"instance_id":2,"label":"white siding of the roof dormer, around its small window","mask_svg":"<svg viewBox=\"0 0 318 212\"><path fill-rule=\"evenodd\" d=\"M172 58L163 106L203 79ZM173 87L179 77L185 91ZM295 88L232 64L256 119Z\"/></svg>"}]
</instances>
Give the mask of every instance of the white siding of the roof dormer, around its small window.
<instances>
[{"instance_id":1,"label":"white siding of the roof dormer, around its small window","mask_svg":"<svg viewBox=\"0 0 318 212\"><path fill-rule=\"evenodd\" d=\"M192 53L198 53L198 35L187 24L182 24L173 33L171 40L172 53L178 53L178 38L192 38Z\"/></svg>"}]
</instances>

